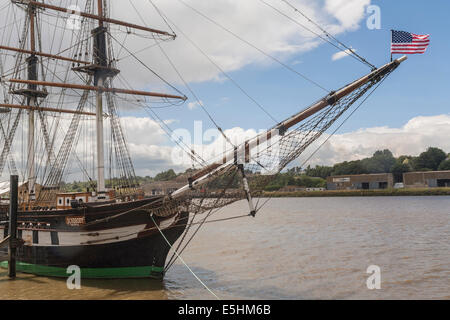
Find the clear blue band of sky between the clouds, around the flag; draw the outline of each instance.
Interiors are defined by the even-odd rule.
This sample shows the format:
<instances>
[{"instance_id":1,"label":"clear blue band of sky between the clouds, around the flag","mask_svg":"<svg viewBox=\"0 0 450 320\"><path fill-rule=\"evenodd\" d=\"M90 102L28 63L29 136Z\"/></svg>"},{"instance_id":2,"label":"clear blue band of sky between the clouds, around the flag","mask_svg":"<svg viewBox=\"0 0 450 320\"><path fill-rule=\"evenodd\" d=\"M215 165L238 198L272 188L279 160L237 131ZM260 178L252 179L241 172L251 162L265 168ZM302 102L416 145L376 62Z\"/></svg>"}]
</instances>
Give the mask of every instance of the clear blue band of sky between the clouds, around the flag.
<instances>
[{"instance_id":1,"label":"clear blue band of sky between the clouds, around the flag","mask_svg":"<svg viewBox=\"0 0 450 320\"><path fill-rule=\"evenodd\" d=\"M368 61L377 66L389 61L390 29L430 34L431 44L425 54L409 55L406 63L383 83L338 132L377 126L401 127L416 116L448 114L450 109L446 93L450 84L450 2L385 0L372 1L372 4L381 9L380 30L369 30L363 19L358 30L338 36ZM290 22L286 20L286 23ZM286 63L329 89L337 89L370 71L350 57L332 61L331 56L336 52L334 47L324 43L314 50L290 57ZM251 64L230 72L230 75L277 120L297 112L324 94L278 64ZM236 126L263 129L274 124L230 81L207 81L191 85L224 129ZM188 93L187 90L184 92ZM200 109L191 112L186 112L186 109L184 106L176 112L158 111L158 114L164 118L178 119L175 127L191 129L194 120L205 120L204 126L213 127Z\"/></svg>"}]
</instances>

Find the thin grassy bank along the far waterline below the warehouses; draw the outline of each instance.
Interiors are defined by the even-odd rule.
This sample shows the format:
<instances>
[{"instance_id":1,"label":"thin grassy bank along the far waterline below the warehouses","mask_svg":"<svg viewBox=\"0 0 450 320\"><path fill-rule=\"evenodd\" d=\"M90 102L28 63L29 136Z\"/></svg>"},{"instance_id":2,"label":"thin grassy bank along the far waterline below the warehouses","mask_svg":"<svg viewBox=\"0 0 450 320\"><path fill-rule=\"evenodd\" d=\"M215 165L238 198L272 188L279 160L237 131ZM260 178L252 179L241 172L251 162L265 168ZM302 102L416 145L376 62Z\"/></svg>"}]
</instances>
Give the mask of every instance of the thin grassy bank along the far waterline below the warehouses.
<instances>
[{"instance_id":1,"label":"thin grassy bank along the far waterline below the warehouses","mask_svg":"<svg viewBox=\"0 0 450 320\"><path fill-rule=\"evenodd\" d=\"M270 197L450 196L450 188L264 192Z\"/></svg>"}]
</instances>

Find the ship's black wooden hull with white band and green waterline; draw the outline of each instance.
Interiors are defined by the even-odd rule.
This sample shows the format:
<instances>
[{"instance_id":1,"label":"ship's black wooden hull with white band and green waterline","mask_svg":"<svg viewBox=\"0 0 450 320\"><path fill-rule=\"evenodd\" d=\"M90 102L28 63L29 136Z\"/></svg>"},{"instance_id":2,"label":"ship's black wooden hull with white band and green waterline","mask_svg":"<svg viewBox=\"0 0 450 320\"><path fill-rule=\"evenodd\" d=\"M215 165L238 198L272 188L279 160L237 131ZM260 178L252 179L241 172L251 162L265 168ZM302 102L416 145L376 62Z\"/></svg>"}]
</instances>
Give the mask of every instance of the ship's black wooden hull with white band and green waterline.
<instances>
[{"instance_id":1,"label":"ship's black wooden hull with white band and green waterline","mask_svg":"<svg viewBox=\"0 0 450 320\"><path fill-rule=\"evenodd\" d=\"M156 200L19 213L18 237L25 244L17 250L17 270L67 277L67 267L76 265L82 278L162 278L170 246L142 209ZM172 244L185 230L187 218L185 212L154 217ZM0 229L0 240L7 231ZM7 267L7 262L0 266Z\"/></svg>"}]
</instances>

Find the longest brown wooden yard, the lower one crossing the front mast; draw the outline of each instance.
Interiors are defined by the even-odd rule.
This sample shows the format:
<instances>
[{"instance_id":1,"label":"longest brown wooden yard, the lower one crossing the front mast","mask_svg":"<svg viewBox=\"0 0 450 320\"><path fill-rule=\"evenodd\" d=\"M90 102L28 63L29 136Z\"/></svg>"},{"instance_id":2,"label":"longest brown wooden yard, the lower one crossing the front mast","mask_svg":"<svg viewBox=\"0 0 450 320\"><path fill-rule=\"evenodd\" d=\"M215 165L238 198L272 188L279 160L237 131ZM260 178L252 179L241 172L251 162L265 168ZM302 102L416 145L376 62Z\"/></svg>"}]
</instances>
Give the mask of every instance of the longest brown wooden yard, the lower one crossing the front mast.
<instances>
[{"instance_id":1,"label":"longest brown wooden yard, the lower one crossing the front mast","mask_svg":"<svg viewBox=\"0 0 450 320\"><path fill-rule=\"evenodd\" d=\"M159 92L137 91L137 90L118 89L118 88L104 88L104 87L88 86L88 85L81 85L81 84L57 83L57 82L23 80L23 79L7 79L5 81L9 81L9 82L13 82L13 83L34 84L34 85L38 85L38 86L79 89L79 90L91 90L91 91L99 91L99 92L123 93L123 94L137 95L137 96L160 97L160 98L167 98L167 99L180 99L180 100L187 99L186 96L182 97L182 96L159 93Z\"/></svg>"}]
</instances>

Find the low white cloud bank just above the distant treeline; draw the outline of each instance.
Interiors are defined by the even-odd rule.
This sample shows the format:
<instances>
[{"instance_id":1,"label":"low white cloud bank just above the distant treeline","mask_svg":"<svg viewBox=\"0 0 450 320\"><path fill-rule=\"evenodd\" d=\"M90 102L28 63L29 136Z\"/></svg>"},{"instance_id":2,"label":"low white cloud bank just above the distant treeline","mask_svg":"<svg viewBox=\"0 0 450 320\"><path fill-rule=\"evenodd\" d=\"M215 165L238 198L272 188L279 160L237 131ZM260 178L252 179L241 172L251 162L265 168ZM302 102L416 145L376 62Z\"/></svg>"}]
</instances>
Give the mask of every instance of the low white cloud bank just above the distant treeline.
<instances>
[{"instance_id":1,"label":"low white cloud bank just above the distant treeline","mask_svg":"<svg viewBox=\"0 0 450 320\"><path fill-rule=\"evenodd\" d=\"M66 127L69 120L66 119L63 122L61 125ZM179 147L176 147L171 142L155 121L146 118L126 117L122 119L122 124L125 129L128 129L129 150L138 175L154 176L158 172L169 168L181 172L191 167L192 162L189 157L184 157L182 161L179 161L179 157L174 157L174 155L180 154ZM107 123L106 127L108 127ZM88 128L83 134L92 137L95 135L94 130L93 127ZM254 137L259 131L236 127L225 130L225 134L236 145ZM26 134L26 131L23 134ZM205 160L217 159L224 150L230 149L230 145L226 143L223 136L215 129L208 130L205 128L205 131L201 132L200 141L195 139L194 133L188 132L188 134L189 136L184 142L189 147L194 148L196 153ZM375 151L380 149L389 149L395 156L418 155L430 146L439 147L446 152L450 152L449 136L450 114L427 117L418 116L399 128L373 127L336 134L319 149L306 165L333 165L342 161L362 159L370 157ZM324 134L317 142L307 148L300 158L295 160L293 165L302 164L327 137L328 135ZM20 150L23 150L24 146L21 145L20 141L20 139L16 140L13 154L21 173L23 168L20 168L22 164L20 159L23 157ZM93 162L95 141L81 136L80 142L76 148L77 155L86 164L87 171L91 174L93 167L90 164ZM61 141L59 141L58 145L60 143ZM107 141L106 150L108 150L108 145L109 142ZM41 149L43 148L42 141L39 142L38 146ZM106 153L108 154L108 152ZM45 152L42 151L42 154L45 154ZM41 163L41 159L37 159L37 161L39 164ZM74 175L70 176L67 181L70 178L83 179L80 176L79 169L77 169L77 161L73 156L71 164L72 168L75 169L69 169L68 172L74 173ZM8 170L5 168L4 176L2 177L5 181L7 180L7 174Z\"/></svg>"}]
</instances>

